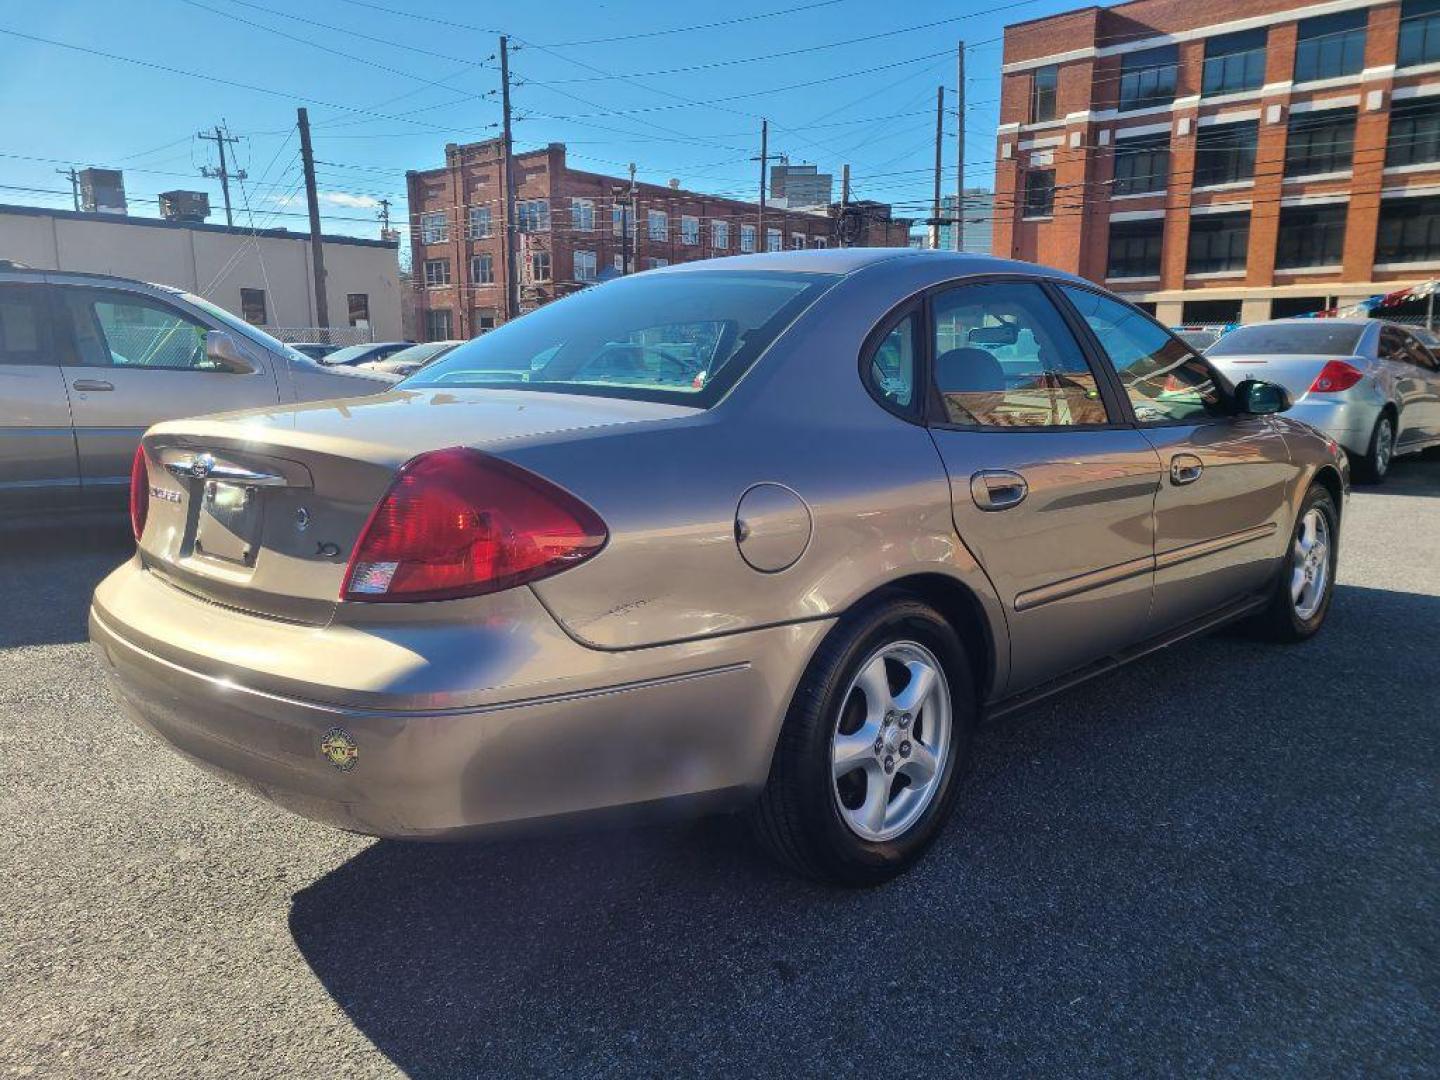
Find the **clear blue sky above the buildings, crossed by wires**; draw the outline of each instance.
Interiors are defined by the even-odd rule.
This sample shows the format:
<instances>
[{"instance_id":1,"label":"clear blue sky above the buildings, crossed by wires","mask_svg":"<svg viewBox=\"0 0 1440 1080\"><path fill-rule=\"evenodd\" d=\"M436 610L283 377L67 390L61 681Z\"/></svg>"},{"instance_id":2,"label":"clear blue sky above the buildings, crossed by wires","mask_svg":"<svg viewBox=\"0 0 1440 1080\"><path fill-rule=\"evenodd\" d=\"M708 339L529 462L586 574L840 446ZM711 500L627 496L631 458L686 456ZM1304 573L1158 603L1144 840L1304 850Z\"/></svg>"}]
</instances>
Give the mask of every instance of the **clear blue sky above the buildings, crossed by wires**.
<instances>
[{"instance_id":1,"label":"clear blue sky above the buildings, crossed by wires","mask_svg":"<svg viewBox=\"0 0 1440 1080\"><path fill-rule=\"evenodd\" d=\"M223 121L249 173L232 187L236 223L305 229L294 134L305 105L325 230L374 236L376 200L405 213L406 168L494 134L504 32L518 148L563 141L577 168L619 174L635 161L642 180L753 199L763 115L772 154L837 181L848 161L855 197L923 216L935 92L943 82L953 104L956 42L969 46L966 184L989 186L1004 26L1074 6L7 0L0 202L65 207L56 168L114 166L131 213L153 215L157 193L184 187L209 190L212 220L223 220L219 184L199 176L215 145L194 138ZM721 24L670 33L706 23ZM953 118L946 128L950 190Z\"/></svg>"}]
</instances>

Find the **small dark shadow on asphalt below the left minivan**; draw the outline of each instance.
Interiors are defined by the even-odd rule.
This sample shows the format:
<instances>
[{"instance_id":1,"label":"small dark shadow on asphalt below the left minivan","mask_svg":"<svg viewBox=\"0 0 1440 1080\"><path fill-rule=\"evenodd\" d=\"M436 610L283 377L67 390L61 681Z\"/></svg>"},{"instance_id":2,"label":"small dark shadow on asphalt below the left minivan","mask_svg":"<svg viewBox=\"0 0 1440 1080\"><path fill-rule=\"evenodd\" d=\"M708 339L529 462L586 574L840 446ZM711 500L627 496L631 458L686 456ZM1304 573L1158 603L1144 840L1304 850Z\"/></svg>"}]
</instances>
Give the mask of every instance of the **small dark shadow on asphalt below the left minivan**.
<instances>
[{"instance_id":1,"label":"small dark shadow on asphalt below the left minivan","mask_svg":"<svg viewBox=\"0 0 1440 1080\"><path fill-rule=\"evenodd\" d=\"M0 526L0 648L85 641L91 593L134 550L124 514Z\"/></svg>"}]
</instances>

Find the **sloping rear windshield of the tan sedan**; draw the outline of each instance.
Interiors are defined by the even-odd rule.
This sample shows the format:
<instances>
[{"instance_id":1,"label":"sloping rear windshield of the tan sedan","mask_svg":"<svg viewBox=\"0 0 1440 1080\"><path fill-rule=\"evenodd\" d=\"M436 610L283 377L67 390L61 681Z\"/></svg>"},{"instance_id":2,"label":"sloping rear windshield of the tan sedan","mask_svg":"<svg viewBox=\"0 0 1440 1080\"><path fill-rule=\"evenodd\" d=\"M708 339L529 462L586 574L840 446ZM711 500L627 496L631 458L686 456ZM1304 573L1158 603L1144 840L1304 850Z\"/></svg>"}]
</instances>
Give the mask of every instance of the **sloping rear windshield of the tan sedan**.
<instances>
[{"instance_id":1,"label":"sloping rear windshield of the tan sedan","mask_svg":"<svg viewBox=\"0 0 1440 1080\"><path fill-rule=\"evenodd\" d=\"M708 405L835 281L765 271L619 278L467 341L405 386L504 384Z\"/></svg>"}]
</instances>

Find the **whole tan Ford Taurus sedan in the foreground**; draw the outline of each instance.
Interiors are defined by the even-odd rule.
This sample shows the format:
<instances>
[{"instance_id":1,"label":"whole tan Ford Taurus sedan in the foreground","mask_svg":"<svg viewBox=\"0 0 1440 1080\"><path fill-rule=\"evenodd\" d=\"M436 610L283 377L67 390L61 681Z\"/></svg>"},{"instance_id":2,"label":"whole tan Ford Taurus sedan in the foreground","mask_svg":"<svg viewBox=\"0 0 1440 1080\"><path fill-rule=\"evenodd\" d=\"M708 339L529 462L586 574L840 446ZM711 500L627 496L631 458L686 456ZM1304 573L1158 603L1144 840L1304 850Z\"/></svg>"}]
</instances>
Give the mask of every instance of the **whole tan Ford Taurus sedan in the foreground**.
<instances>
[{"instance_id":1,"label":"whole tan Ford Taurus sedan in the foreground","mask_svg":"<svg viewBox=\"0 0 1440 1080\"><path fill-rule=\"evenodd\" d=\"M153 428L91 636L140 724L341 828L744 809L874 883L982 717L1319 629L1348 471L1286 405L1025 264L674 266L376 397Z\"/></svg>"}]
</instances>

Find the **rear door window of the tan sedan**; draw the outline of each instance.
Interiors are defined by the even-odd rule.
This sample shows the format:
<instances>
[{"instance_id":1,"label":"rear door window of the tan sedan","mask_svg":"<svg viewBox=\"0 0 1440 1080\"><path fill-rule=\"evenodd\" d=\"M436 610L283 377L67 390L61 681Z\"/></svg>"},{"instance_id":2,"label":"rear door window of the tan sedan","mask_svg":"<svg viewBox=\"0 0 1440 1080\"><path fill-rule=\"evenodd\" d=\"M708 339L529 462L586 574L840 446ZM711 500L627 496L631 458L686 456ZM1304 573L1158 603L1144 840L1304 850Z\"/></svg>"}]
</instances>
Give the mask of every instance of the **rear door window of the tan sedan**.
<instances>
[{"instance_id":1,"label":"rear door window of the tan sedan","mask_svg":"<svg viewBox=\"0 0 1440 1080\"><path fill-rule=\"evenodd\" d=\"M1107 423L1099 382L1064 317L1032 282L960 285L933 300L935 387L963 428Z\"/></svg>"}]
</instances>

